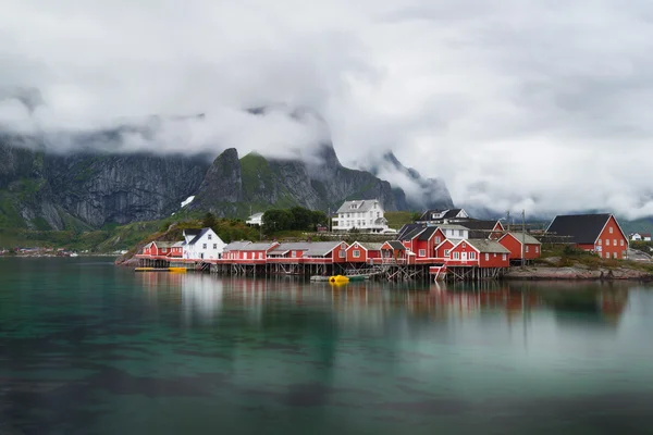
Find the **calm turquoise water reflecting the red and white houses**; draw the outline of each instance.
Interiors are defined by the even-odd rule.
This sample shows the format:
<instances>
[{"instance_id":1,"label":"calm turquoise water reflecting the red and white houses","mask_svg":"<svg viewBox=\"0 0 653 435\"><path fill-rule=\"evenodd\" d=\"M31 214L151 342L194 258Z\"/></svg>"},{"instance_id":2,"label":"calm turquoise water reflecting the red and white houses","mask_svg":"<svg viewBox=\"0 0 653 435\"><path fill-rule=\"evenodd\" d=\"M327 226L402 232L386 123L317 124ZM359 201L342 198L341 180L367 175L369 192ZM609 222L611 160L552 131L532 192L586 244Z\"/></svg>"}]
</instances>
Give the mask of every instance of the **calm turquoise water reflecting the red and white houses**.
<instances>
[{"instance_id":1,"label":"calm turquoise water reflecting the red and white houses","mask_svg":"<svg viewBox=\"0 0 653 435\"><path fill-rule=\"evenodd\" d=\"M0 434L653 433L638 284L0 277Z\"/></svg>"}]
</instances>

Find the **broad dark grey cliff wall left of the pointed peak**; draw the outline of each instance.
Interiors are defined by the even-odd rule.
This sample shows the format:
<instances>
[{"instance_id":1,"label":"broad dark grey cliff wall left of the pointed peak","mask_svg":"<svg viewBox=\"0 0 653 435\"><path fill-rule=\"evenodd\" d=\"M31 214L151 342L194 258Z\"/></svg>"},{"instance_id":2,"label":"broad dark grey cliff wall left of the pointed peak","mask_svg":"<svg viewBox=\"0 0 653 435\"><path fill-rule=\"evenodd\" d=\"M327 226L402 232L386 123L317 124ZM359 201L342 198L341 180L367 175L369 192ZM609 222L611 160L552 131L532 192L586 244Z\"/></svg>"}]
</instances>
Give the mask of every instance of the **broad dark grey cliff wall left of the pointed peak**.
<instances>
[{"instance_id":1,"label":"broad dark grey cliff wall left of the pointed peak","mask_svg":"<svg viewBox=\"0 0 653 435\"><path fill-rule=\"evenodd\" d=\"M204 157L76 153L0 144L0 227L63 229L160 219L200 186Z\"/></svg>"}]
</instances>

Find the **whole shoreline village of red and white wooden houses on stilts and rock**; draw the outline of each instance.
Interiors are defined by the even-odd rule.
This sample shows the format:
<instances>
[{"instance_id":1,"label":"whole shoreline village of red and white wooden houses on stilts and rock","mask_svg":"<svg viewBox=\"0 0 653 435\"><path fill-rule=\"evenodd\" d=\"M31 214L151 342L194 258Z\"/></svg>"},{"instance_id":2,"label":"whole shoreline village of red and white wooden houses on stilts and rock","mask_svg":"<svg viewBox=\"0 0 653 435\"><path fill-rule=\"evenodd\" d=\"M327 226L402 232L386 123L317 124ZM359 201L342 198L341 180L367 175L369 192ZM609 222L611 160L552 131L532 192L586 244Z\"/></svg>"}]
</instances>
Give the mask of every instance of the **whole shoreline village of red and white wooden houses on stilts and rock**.
<instances>
[{"instance_id":1,"label":"whole shoreline village of red and white wooden houses on stilts and rock","mask_svg":"<svg viewBox=\"0 0 653 435\"><path fill-rule=\"evenodd\" d=\"M264 213L256 213L247 223L261 228L264 221ZM328 228L321 225L321 241L226 244L210 227L185 228L178 239L165 235L150 239L116 264L226 275L343 274L391 281L653 277L650 260L629 260L628 237L609 213L558 215L545 231L514 227L504 219L478 220L463 209L447 209L428 210L393 231L378 200L357 200L346 201Z\"/></svg>"}]
</instances>

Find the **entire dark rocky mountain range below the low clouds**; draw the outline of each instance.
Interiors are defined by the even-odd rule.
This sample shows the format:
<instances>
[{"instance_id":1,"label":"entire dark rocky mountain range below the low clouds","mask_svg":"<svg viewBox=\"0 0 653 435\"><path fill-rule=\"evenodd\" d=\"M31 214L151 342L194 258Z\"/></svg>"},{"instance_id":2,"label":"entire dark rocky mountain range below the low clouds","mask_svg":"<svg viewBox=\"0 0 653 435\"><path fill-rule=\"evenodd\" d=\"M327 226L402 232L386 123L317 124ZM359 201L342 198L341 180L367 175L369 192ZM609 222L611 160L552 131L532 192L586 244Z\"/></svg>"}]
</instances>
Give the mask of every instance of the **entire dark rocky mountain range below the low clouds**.
<instances>
[{"instance_id":1,"label":"entire dark rocky mountain range below the low clouds","mask_svg":"<svg viewBox=\"0 0 653 435\"><path fill-rule=\"evenodd\" d=\"M419 174L414 177L423 182ZM429 204L451 204L446 187L436 181L423 183L432 192ZM235 149L229 149L211 164L206 156L88 147L57 154L34 138L0 136L0 228L97 228L163 219L177 212L189 196L196 197L189 209L223 216L244 216L250 207L326 211L347 199L378 198L389 211L414 207L397 185L344 167L329 142L300 160L255 153L239 159Z\"/></svg>"}]
</instances>

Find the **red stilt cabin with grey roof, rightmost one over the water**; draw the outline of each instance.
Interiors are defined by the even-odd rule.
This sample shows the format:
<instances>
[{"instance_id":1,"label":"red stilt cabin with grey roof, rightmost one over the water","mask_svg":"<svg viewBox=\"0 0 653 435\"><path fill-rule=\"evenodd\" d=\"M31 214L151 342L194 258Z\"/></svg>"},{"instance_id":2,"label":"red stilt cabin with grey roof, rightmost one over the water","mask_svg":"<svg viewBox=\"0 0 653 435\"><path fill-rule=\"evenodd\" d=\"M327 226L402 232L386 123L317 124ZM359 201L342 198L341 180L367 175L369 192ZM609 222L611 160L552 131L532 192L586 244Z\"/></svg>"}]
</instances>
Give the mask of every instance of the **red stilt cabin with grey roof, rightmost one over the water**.
<instances>
[{"instance_id":1,"label":"red stilt cabin with grey roof, rightmost one over the water","mask_svg":"<svg viewBox=\"0 0 653 435\"><path fill-rule=\"evenodd\" d=\"M510 251L498 241L486 238L460 240L451 250L447 266L508 268Z\"/></svg>"}]
</instances>

